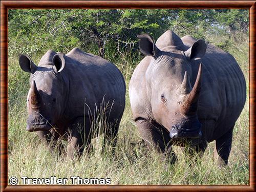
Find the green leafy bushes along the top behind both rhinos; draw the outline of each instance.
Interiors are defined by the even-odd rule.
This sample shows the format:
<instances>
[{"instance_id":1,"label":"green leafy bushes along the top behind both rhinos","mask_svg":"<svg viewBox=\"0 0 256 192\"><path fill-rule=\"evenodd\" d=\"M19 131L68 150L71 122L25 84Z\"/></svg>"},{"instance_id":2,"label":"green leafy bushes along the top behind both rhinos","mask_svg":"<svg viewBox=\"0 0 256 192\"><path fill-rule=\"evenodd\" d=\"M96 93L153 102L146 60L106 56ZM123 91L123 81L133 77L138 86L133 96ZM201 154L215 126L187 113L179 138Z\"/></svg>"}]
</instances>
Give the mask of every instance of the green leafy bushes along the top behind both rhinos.
<instances>
[{"instance_id":1,"label":"green leafy bushes along the top behind both rhinos","mask_svg":"<svg viewBox=\"0 0 256 192\"><path fill-rule=\"evenodd\" d=\"M133 54L138 49L137 34L148 33L157 39L167 29L196 38L248 33L248 10L10 9L8 16L11 55L80 47L105 57L108 46L117 53Z\"/></svg>"}]
</instances>

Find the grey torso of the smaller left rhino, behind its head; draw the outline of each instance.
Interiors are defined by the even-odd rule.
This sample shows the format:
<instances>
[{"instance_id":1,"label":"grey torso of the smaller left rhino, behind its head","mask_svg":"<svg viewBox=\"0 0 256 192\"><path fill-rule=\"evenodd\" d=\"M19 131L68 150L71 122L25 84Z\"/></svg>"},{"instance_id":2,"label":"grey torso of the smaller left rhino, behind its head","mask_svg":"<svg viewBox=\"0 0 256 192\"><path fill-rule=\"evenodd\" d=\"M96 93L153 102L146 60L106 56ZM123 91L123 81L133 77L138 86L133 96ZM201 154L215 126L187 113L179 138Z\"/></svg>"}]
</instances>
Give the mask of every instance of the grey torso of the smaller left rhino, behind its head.
<instances>
[{"instance_id":1,"label":"grey torso of the smaller left rhino, behind its head","mask_svg":"<svg viewBox=\"0 0 256 192\"><path fill-rule=\"evenodd\" d=\"M114 102L110 116L122 115L125 82L113 63L78 48L66 54L65 61L65 76L69 79L68 113L79 116L85 108L93 113L95 105L99 108L102 103L105 106L109 103L110 110Z\"/></svg>"}]
</instances>

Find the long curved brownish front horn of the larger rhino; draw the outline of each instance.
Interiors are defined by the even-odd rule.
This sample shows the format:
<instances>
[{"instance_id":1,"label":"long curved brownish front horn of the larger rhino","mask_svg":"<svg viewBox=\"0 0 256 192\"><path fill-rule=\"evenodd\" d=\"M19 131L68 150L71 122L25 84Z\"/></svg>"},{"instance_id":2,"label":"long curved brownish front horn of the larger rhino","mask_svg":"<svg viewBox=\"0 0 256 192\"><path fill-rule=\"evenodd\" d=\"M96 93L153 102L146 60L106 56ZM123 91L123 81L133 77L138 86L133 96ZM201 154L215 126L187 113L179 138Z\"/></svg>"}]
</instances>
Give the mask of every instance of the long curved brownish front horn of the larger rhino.
<instances>
[{"instance_id":1,"label":"long curved brownish front horn of the larger rhino","mask_svg":"<svg viewBox=\"0 0 256 192\"><path fill-rule=\"evenodd\" d=\"M181 110L184 114L194 114L197 111L197 101L201 90L201 75L202 74L202 63L199 65L197 79L193 89L187 95L184 102L181 105ZM183 80L184 81L184 80Z\"/></svg>"}]
</instances>

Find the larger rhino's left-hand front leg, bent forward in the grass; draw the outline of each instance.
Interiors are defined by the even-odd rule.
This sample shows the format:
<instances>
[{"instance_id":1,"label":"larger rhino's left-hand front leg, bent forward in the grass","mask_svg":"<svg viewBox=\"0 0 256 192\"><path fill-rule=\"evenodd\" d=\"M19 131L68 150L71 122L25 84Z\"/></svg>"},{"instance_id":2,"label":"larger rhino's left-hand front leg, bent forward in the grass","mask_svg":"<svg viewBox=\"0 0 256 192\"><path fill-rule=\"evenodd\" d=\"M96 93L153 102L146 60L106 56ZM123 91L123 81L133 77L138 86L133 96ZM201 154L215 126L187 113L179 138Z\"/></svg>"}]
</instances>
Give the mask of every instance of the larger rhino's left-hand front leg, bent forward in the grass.
<instances>
[{"instance_id":1,"label":"larger rhino's left-hand front leg, bent forward in the grass","mask_svg":"<svg viewBox=\"0 0 256 192\"><path fill-rule=\"evenodd\" d=\"M175 163L177 157L170 144L167 131L163 130L162 127L158 126L156 123L150 123L144 119L137 120L136 124L148 148L165 154L170 163Z\"/></svg>"}]
</instances>

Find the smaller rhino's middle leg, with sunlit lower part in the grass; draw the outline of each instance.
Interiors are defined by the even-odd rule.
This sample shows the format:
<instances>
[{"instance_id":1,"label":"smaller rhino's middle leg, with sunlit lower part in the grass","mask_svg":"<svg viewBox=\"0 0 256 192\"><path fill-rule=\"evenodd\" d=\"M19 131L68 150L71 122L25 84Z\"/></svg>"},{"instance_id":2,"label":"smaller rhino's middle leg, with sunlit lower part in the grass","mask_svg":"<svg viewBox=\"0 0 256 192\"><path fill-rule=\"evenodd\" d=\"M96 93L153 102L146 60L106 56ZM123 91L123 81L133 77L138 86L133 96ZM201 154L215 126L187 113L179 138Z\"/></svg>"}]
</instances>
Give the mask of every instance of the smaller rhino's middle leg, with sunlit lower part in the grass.
<instances>
[{"instance_id":1,"label":"smaller rhino's middle leg, with sunlit lower part in the grass","mask_svg":"<svg viewBox=\"0 0 256 192\"><path fill-rule=\"evenodd\" d=\"M84 118L77 118L72 124L69 143L67 147L67 156L71 159L75 155L80 156L83 153L84 146L90 148L91 145L91 124L90 120L86 118L86 127L84 129Z\"/></svg>"}]
</instances>

